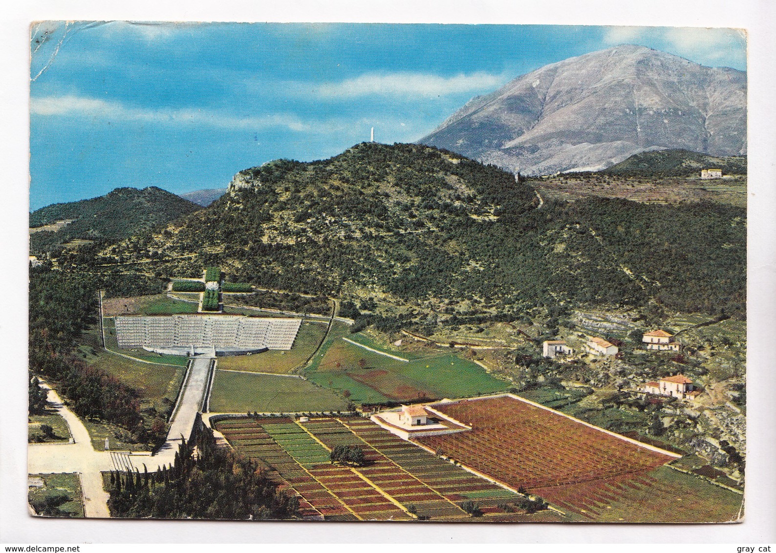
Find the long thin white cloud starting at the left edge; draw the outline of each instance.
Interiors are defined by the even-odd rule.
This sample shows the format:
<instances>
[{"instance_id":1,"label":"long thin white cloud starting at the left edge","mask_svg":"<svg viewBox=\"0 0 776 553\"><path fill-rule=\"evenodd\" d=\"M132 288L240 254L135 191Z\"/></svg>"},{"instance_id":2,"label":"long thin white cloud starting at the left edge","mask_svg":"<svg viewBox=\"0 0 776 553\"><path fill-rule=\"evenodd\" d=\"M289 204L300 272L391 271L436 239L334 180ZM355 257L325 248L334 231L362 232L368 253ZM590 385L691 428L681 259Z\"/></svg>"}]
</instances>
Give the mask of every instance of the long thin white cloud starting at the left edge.
<instances>
[{"instance_id":1,"label":"long thin white cloud starting at the left edge","mask_svg":"<svg viewBox=\"0 0 776 553\"><path fill-rule=\"evenodd\" d=\"M30 111L38 116L71 116L149 123L189 123L227 129L256 130L272 126L296 132L320 130L322 123L307 123L297 116L275 113L268 116L234 116L208 109L147 109L128 107L83 96L44 96L31 100ZM328 126L327 126L328 128Z\"/></svg>"}]
</instances>

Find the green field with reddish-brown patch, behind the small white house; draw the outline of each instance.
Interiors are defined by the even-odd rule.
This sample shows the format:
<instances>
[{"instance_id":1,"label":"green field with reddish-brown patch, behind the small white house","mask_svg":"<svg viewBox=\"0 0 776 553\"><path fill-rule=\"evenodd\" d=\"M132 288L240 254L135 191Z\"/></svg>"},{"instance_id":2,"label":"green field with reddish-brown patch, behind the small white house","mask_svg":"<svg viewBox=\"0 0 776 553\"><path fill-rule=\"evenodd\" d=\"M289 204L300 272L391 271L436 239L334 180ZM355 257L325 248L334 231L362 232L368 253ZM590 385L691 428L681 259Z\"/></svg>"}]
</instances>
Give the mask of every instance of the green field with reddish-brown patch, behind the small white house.
<instances>
[{"instance_id":1,"label":"green field with reddish-brown patch, behind the small white house","mask_svg":"<svg viewBox=\"0 0 776 553\"><path fill-rule=\"evenodd\" d=\"M480 396L508 388L507 382L455 354L405 362L341 339L331 341L307 375L319 385L347 389L355 403Z\"/></svg>"}]
</instances>

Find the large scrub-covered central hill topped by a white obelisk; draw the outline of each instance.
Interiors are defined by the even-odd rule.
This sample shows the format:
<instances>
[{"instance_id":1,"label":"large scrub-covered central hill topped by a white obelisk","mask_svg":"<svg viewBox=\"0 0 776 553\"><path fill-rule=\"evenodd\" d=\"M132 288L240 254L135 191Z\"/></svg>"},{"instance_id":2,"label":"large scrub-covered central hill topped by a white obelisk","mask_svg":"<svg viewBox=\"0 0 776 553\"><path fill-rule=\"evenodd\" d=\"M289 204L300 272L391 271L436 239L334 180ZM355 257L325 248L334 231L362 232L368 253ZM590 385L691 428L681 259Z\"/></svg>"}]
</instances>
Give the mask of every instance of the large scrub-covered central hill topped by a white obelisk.
<instances>
[{"instance_id":1,"label":"large scrub-covered central hill topped by a white obelisk","mask_svg":"<svg viewBox=\"0 0 776 553\"><path fill-rule=\"evenodd\" d=\"M497 168L362 143L325 161L242 171L209 208L107 248L99 264L146 261L168 276L219 265L241 282L373 298L379 313L427 323L650 299L743 312L743 209L601 198L537 206L532 188Z\"/></svg>"}]
</instances>

